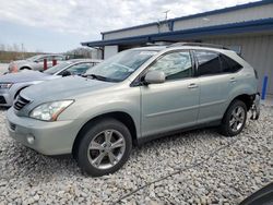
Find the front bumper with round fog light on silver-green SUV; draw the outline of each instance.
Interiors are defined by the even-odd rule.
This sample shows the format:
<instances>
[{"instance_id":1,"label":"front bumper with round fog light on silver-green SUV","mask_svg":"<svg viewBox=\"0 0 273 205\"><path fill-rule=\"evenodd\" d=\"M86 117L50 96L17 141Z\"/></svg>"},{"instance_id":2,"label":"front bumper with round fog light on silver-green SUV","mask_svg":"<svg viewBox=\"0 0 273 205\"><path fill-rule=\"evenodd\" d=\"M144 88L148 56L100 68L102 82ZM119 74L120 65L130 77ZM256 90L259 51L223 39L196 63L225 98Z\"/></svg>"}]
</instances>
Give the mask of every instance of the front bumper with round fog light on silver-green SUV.
<instances>
[{"instance_id":1,"label":"front bumper with round fog light on silver-green SUV","mask_svg":"<svg viewBox=\"0 0 273 205\"><path fill-rule=\"evenodd\" d=\"M17 117L13 108L7 112L7 125L11 137L44 155L72 153L80 125L74 120L45 122ZM33 143L27 138L33 137Z\"/></svg>"}]
</instances>

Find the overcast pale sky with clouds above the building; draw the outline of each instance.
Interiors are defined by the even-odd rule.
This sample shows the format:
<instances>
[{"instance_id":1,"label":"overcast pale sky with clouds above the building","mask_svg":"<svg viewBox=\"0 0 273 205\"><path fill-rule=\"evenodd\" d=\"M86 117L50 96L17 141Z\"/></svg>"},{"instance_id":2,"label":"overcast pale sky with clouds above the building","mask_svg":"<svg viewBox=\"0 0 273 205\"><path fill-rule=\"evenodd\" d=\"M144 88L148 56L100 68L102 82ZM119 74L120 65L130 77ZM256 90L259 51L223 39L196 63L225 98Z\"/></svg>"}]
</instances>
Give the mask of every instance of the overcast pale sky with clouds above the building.
<instances>
[{"instance_id":1,"label":"overcast pale sky with clouds above the building","mask_svg":"<svg viewBox=\"0 0 273 205\"><path fill-rule=\"evenodd\" d=\"M251 2L254 0L251 0ZM100 32L222 9L250 0L0 0L0 44L62 52Z\"/></svg>"}]
</instances>

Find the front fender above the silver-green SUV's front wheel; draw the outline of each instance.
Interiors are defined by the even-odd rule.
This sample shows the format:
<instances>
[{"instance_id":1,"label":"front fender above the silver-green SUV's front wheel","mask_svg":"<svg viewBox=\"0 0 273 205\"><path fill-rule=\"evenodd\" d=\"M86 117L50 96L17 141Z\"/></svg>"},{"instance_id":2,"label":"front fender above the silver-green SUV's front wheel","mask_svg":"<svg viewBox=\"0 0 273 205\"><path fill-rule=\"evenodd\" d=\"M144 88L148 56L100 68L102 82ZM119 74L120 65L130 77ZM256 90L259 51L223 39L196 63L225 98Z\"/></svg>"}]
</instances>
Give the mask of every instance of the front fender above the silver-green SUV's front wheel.
<instances>
[{"instance_id":1,"label":"front fender above the silver-green SUV's front wheel","mask_svg":"<svg viewBox=\"0 0 273 205\"><path fill-rule=\"evenodd\" d=\"M141 106L139 87L114 95L104 93L99 96L75 99L74 104L68 107L59 116L58 120L76 120L80 121L82 128L90 120L110 112L126 112L129 114L134 122L136 135L140 136ZM81 128L79 128L79 131Z\"/></svg>"}]
</instances>

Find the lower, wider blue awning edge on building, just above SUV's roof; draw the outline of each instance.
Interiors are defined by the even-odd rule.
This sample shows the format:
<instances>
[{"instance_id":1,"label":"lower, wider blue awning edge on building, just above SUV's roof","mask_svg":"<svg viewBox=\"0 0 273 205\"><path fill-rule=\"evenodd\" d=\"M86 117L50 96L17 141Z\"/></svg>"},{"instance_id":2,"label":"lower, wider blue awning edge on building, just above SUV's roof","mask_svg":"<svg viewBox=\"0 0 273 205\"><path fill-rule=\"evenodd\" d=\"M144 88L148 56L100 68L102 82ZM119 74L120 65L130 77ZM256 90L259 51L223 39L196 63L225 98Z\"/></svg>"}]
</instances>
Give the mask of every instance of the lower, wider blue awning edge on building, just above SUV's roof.
<instances>
[{"instance_id":1,"label":"lower, wider blue awning edge on building, just above SUV's roof","mask_svg":"<svg viewBox=\"0 0 273 205\"><path fill-rule=\"evenodd\" d=\"M240 22L233 24L224 24L216 26L199 27L185 31L166 32L159 34L141 35L126 38L117 38L109 40L97 40L82 43L83 46L102 47L112 45L134 45L154 43L161 40L181 40L194 37L226 35L226 34L242 34L250 32L273 31L273 19L256 20L249 22Z\"/></svg>"}]
</instances>

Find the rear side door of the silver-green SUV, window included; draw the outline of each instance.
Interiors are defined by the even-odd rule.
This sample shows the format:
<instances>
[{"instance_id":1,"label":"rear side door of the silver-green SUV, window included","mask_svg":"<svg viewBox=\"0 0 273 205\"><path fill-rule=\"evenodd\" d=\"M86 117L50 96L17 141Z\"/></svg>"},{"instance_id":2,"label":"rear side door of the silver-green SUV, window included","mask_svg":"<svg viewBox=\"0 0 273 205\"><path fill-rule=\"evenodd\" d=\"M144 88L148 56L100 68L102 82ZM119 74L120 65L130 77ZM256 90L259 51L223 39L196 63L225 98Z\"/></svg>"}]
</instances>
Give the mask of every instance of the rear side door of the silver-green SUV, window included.
<instances>
[{"instance_id":1,"label":"rear side door of the silver-green SUV, window included","mask_svg":"<svg viewBox=\"0 0 273 205\"><path fill-rule=\"evenodd\" d=\"M229 74L223 73L219 53L194 50L200 83L198 123L222 119L228 98Z\"/></svg>"}]
</instances>

